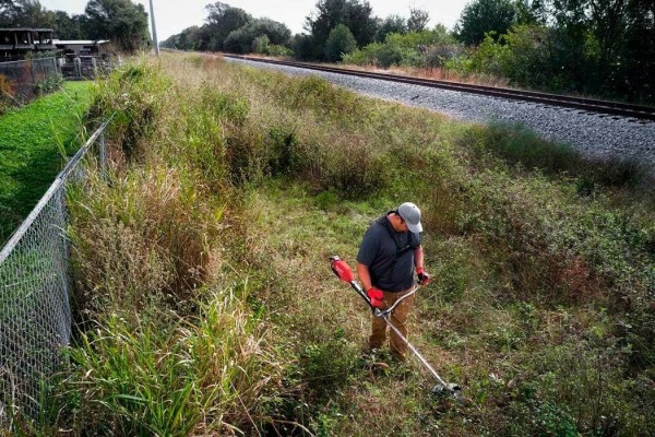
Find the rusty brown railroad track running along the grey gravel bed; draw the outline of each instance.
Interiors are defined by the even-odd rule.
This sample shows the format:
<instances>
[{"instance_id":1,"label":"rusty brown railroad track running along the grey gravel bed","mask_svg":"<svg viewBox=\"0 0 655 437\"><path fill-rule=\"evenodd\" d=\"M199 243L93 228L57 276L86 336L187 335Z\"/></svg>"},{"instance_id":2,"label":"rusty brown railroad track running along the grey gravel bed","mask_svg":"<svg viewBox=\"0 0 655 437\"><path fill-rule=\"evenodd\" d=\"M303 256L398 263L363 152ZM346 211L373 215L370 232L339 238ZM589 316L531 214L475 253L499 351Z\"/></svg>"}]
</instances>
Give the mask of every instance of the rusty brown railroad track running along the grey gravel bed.
<instances>
[{"instance_id":1,"label":"rusty brown railroad track running along the grey gravel bed","mask_svg":"<svg viewBox=\"0 0 655 437\"><path fill-rule=\"evenodd\" d=\"M618 102L599 101L594 98L581 98L562 96L557 94L537 93L532 91L520 91L501 88L496 86L471 85L465 83L439 81L433 79L410 78L400 74L376 73L369 71L349 70L335 67L325 67L314 63L287 62L273 59L253 58L241 55L223 55L226 58L242 59L254 62L273 63L278 66L303 68L309 70L325 71L337 74L348 74L359 78L378 79L390 82L407 83L412 85L429 86L443 90L458 91L462 93L480 94L513 101L532 102L550 106L573 108L582 111L607 114L617 117L627 117L634 120L655 121L655 107L630 105Z\"/></svg>"}]
</instances>

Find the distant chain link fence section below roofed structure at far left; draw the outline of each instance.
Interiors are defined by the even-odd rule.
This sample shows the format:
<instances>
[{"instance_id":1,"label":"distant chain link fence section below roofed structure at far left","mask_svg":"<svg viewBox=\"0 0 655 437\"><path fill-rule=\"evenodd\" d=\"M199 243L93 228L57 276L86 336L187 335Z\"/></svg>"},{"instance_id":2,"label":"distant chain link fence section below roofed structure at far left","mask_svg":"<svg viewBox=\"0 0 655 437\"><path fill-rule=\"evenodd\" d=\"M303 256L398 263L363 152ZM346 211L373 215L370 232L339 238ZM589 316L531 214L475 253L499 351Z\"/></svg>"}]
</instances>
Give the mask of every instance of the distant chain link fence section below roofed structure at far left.
<instances>
[{"instance_id":1,"label":"distant chain link fence section below roofed structure at far left","mask_svg":"<svg viewBox=\"0 0 655 437\"><path fill-rule=\"evenodd\" d=\"M58 74L55 58L0 62L0 93L3 94L0 97L28 102L35 97L38 84Z\"/></svg>"}]
</instances>

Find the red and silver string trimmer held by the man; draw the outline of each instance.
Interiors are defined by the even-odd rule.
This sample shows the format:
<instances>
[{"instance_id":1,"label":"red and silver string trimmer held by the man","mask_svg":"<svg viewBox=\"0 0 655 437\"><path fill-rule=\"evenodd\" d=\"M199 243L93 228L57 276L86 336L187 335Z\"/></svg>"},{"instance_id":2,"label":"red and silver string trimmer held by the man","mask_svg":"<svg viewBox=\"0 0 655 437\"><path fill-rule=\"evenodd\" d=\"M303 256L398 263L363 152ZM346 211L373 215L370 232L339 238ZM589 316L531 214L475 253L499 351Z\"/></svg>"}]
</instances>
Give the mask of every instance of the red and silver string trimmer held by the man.
<instances>
[{"instance_id":1,"label":"red and silver string trimmer held by the man","mask_svg":"<svg viewBox=\"0 0 655 437\"><path fill-rule=\"evenodd\" d=\"M391 320L389 320L389 315L390 315L391 310L393 309L393 307L385 311L380 310L380 308L373 307L371 305L371 300L366 295L364 288L361 288L359 283L357 283L355 281L355 275L353 274L353 271L350 270L350 267L346 263L346 261L344 261L340 257L335 256L335 257L330 257L330 263L332 265L332 271L334 272L334 274L336 274L336 277L338 277L343 282L347 282L348 284L350 284L350 286L357 292L357 294L369 306L369 308L373 312L373 316L381 317L382 319L384 319L384 321L386 322L389 328L391 328L401 338L401 340L407 345L407 347L409 347L412 353L418 358L418 361L425 366L425 368L427 368L430 371L430 374L434 377L434 379L437 379L437 381L439 383L437 386L434 386L434 388L432 389L432 393L450 393L453 397L455 397L455 399L462 400L462 388L457 385L445 382L439 376L437 370L434 370L432 368L432 366L430 366L430 363L428 363L428 361L426 358L424 358L424 356L416 350L416 347L414 347L414 345L412 343L409 343L409 341L407 341L405 335L403 335L401 333L401 331L398 331L398 329L393 326Z\"/></svg>"}]
</instances>

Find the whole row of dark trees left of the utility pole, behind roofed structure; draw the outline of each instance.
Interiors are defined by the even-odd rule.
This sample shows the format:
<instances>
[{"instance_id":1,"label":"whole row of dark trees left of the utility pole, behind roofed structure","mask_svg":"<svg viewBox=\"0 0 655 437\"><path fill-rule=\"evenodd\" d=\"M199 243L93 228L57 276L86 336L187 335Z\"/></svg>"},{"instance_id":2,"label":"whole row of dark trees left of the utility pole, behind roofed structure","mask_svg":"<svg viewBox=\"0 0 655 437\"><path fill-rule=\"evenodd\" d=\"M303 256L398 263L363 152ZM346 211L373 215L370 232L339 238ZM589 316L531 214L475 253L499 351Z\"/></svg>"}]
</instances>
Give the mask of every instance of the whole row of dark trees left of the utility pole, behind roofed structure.
<instances>
[{"instance_id":1,"label":"whole row of dark trees left of the utility pole, behind roofed structure","mask_svg":"<svg viewBox=\"0 0 655 437\"><path fill-rule=\"evenodd\" d=\"M0 0L0 27L47 27L58 39L109 39L118 50L152 46L147 13L130 0L90 0L83 14L50 11L38 0Z\"/></svg>"}]
</instances>

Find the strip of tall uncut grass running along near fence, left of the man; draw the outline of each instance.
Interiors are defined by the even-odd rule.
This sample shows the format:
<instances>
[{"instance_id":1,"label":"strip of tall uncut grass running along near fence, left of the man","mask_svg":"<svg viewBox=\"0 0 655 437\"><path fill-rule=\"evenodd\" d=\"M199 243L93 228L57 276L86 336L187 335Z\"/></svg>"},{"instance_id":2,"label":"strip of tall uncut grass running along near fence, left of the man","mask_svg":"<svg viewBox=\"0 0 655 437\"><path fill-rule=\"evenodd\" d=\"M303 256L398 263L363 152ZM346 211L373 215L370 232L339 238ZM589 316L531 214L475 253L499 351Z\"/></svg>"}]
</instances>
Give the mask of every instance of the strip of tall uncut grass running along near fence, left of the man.
<instances>
[{"instance_id":1,"label":"strip of tall uncut grass running along near fence, left of the man","mask_svg":"<svg viewBox=\"0 0 655 437\"><path fill-rule=\"evenodd\" d=\"M69 192L78 331L50 432L248 434L266 422L260 397L278 364L246 279L223 271L238 198L221 125L238 115L186 92L143 62L96 90L92 114L117 116L107 174Z\"/></svg>"}]
</instances>

